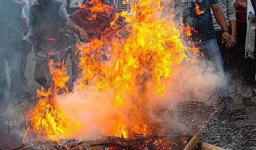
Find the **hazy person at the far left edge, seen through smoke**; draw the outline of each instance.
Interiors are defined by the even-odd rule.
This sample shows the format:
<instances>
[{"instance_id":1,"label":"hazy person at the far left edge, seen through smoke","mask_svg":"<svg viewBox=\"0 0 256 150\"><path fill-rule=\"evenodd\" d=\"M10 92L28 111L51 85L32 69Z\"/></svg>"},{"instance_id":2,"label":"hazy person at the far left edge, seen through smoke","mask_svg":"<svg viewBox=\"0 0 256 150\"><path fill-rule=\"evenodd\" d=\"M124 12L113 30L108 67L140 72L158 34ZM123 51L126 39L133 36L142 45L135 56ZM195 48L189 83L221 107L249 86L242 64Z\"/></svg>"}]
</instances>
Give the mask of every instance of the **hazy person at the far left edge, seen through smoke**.
<instances>
[{"instance_id":1,"label":"hazy person at the far left edge, seen through smoke","mask_svg":"<svg viewBox=\"0 0 256 150\"><path fill-rule=\"evenodd\" d=\"M23 87L20 78L20 54L25 52L25 46L20 42L22 39L21 27L24 16L21 16L24 1L1 0L0 10L0 104L5 104L4 92L7 85L5 61L7 60L11 86L10 101L13 102L23 95ZM26 23L26 22L25 22ZM24 28L23 28L24 30Z\"/></svg>"}]
</instances>

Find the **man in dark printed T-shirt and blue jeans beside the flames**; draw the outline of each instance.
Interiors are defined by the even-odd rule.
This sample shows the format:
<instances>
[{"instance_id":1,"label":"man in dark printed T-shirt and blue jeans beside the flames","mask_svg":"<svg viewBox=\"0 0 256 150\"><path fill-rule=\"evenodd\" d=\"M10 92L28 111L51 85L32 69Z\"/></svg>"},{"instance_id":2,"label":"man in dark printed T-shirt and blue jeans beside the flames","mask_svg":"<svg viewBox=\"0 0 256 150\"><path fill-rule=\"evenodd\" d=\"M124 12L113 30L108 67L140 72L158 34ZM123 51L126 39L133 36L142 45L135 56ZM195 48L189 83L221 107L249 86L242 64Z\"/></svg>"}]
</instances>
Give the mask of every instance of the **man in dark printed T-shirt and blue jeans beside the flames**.
<instances>
[{"instance_id":1,"label":"man in dark printed T-shirt and blue jeans beside the flames","mask_svg":"<svg viewBox=\"0 0 256 150\"><path fill-rule=\"evenodd\" d=\"M198 0L191 2L179 0L176 2L174 9L178 8L183 9L182 21L184 26L190 25L196 31L192 33L190 37L191 41L204 54L204 59L212 62L215 66L215 72L221 79L216 90L219 96L224 98L229 93L229 86L216 40L216 33L213 28L211 9L217 23L222 28L222 42L228 42L230 34L218 0ZM226 98L230 99L230 97Z\"/></svg>"}]
</instances>

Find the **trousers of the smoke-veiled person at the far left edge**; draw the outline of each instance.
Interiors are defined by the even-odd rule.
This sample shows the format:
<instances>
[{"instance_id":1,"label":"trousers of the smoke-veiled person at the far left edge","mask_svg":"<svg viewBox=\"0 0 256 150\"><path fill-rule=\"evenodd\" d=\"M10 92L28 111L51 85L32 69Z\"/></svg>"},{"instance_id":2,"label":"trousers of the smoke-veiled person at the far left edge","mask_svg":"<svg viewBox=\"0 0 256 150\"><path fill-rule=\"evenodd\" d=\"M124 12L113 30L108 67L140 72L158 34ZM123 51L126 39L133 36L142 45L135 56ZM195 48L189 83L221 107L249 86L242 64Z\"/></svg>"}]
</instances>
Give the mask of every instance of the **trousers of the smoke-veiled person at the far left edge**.
<instances>
[{"instance_id":1,"label":"trousers of the smoke-veiled person at the far left edge","mask_svg":"<svg viewBox=\"0 0 256 150\"><path fill-rule=\"evenodd\" d=\"M5 72L5 61L7 60L11 78L11 100L18 98L22 91L20 78L20 53L24 51L25 47L21 43L12 43L6 48L0 47L0 94L3 95L8 87Z\"/></svg>"}]
</instances>

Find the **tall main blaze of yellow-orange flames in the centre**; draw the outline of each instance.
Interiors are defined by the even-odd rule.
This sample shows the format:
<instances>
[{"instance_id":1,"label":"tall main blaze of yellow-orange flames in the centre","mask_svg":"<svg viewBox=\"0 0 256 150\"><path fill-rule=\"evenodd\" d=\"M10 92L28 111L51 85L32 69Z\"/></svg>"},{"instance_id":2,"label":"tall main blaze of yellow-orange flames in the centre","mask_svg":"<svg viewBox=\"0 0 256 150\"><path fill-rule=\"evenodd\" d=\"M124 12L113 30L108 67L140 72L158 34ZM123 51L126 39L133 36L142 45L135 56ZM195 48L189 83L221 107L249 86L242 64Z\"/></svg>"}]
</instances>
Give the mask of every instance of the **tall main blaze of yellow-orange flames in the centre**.
<instances>
[{"instance_id":1,"label":"tall main blaze of yellow-orange flames in the centre","mask_svg":"<svg viewBox=\"0 0 256 150\"><path fill-rule=\"evenodd\" d=\"M94 0L95 1L95 0ZM96 10L96 9L93 9ZM120 14L129 22L125 30L111 24L101 40L77 45L81 53L82 78L80 90L94 87L98 92L113 92L108 99L113 106L132 113L116 113L109 135L132 136L133 133L152 134L157 126L148 119L146 93L148 83L156 85L155 95L163 98L166 85L163 80L171 77L171 68L187 57L179 30L172 21L173 15L162 18L160 0L136 1L131 4L131 14ZM119 14L117 14L119 15ZM119 38L123 32L129 33ZM102 59L106 55L107 61ZM136 104L134 104L134 99Z\"/></svg>"}]
</instances>

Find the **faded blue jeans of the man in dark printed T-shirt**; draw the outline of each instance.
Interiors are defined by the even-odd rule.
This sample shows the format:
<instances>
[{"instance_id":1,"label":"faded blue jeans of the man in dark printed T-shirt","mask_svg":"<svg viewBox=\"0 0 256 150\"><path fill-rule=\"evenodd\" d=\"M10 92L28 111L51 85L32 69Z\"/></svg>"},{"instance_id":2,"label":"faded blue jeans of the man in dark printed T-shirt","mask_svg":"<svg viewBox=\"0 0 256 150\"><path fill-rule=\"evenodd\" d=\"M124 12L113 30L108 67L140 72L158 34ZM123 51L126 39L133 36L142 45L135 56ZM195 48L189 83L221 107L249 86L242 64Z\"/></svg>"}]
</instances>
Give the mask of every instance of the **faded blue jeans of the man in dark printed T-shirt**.
<instances>
[{"instance_id":1,"label":"faded blue jeans of the man in dark printed T-shirt","mask_svg":"<svg viewBox=\"0 0 256 150\"><path fill-rule=\"evenodd\" d=\"M216 90L221 97L225 96L229 93L229 86L217 40L210 39L202 42L195 42L195 46L204 54L203 59L212 62L215 66L216 74L220 77Z\"/></svg>"}]
</instances>

